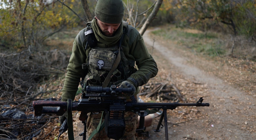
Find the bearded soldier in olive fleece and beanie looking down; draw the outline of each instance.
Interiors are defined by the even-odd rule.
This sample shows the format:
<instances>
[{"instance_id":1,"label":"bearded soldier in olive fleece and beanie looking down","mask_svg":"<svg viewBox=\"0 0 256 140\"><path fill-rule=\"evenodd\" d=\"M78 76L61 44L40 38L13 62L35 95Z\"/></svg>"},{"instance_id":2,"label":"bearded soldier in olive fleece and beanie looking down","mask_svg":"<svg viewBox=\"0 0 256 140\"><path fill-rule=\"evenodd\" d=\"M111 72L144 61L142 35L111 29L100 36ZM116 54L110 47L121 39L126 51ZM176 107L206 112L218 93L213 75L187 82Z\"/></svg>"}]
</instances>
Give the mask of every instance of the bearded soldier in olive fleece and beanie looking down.
<instances>
[{"instance_id":1,"label":"bearded soldier in olive fleece and beanie looking down","mask_svg":"<svg viewBox=\"0 0 256 140\"><path fill-rule=\"evenodd\" d=\"M157 64L147 51L141 34L123 21L123 16L122 0L99 0L97 2L95 17L87 23L87 27L82 29L74 40L62 89L62 101L74 100L80 78L83 79L81 82L83 88L88 85L109 87L115 84L119 87L131 87L132 95L136 97L138 87L157 75ZM118 54L121 55L121 60L113 74L111 73L109 82L104 83L115 61L119 61ZM135 63L138 70L135 68ZM127 95L128 101L130 96ZM65 117L66 113L60 117L61 123ZM127 111L124 117L126 128L122 139L135 140L138 115ZM101 112L88 114L89 135L96 129L100 119ZM109 138L102 129L92 139Z\"/></svg>"}]
</instances>

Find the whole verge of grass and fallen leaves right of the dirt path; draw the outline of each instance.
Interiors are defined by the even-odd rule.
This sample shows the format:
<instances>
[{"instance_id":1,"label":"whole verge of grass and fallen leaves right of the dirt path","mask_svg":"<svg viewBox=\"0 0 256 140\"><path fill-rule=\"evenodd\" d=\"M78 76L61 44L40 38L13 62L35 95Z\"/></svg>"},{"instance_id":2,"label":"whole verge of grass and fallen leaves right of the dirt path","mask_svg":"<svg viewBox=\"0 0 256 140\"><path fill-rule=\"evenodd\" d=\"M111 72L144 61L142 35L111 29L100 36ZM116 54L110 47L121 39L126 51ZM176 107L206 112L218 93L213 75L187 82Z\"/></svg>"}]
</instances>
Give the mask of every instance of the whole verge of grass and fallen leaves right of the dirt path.
<instances>
[{"instance_id":1,"label":"whole verge of grass and fallen leaves right of the dirt path","mask_svg":"<svg viewBox=\"0 0 256 140\"><path fill-rule=\"evenodd\" d=\"M166 40L170 47L189 58L194 54L204 62L190 61L202 70L212 73L248 94L255 93L256 42L244 36L233 36L221 32L201 32L193 29L180 29L173 25L161 27L152 32L161 41ZM232 47L234 47L233 52ZM192 53L191 53L192 52ZM214 64L208 65L207 62ZM199 62L199 63L197 63Z\"/></svg>"}]
</instances>

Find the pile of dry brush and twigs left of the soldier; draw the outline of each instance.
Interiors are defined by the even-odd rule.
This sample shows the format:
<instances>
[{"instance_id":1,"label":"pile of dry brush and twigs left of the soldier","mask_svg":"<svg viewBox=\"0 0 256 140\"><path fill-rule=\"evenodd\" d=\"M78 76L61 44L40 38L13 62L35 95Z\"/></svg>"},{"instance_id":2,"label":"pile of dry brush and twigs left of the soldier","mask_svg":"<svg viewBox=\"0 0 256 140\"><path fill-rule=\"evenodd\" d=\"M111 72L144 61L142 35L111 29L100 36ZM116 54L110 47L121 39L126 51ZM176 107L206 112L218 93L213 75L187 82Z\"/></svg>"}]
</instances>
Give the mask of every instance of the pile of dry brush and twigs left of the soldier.
<instances>
[{"instance_id":1,"label":"pile of dry brush and twigs left of the soldier","mask_svg":"<svg viewBox=\"0 0 256 140\"><path fill-rule=\"evenodd\" d=\"M0 53L0 139L49 137L43 131L56 116L35 117L32 101L56 90L46 89L65 74L69 56L57 50L33 52Z\"/></svg>"}]
</instances>

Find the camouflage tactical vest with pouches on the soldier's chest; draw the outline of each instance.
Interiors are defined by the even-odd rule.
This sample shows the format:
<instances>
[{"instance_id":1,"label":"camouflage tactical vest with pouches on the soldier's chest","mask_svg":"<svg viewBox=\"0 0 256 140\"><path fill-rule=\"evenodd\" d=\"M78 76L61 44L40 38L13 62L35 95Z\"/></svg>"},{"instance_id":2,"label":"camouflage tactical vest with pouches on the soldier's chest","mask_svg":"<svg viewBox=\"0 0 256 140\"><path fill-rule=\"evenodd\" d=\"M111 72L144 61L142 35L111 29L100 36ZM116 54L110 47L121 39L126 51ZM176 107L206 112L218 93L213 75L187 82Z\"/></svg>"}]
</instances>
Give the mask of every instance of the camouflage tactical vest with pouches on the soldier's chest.
<instances>
[{"instance_id":1,"label":"camouflage tactical vest with pouches on the soldier's chest","mask_svg":"<svg viewBox=\"0 0 256 140\"><path fill-rule=\"evenodd\" d=\"M87 28L90 28L90 23L87 24ZM127 27L128 28L128 27ZM128 29L124 28L123 35L127 34ZM88 32L88 31L87 31ZM90 39L93 37L90 37ZM118 85L122 81L125 81L132 73L136 72L135 62L129 61L124 55L122 49L122 38L116 43L107 48L100 47L88 47L88 41L85 45L85 49L91 49L87 55L88 61L85 64L82 64L82 68L86 69L87 75L82 78L81 85L82 90L85 91L86 86L102 86L105 78L107 77L109 71L111 70L118 53L121 55L121 60L118 67L111 75L111 80L108 86L112 84ZM96 40L97 41L97 40ZM89 42L94 42L90 40ZM89 45L90 46L90 45ZM97 46L97 45L96 45ZM120 47L120 52L119 52ZM86 51L88 52L88 51Z\"/></svg>"}]
</instances>

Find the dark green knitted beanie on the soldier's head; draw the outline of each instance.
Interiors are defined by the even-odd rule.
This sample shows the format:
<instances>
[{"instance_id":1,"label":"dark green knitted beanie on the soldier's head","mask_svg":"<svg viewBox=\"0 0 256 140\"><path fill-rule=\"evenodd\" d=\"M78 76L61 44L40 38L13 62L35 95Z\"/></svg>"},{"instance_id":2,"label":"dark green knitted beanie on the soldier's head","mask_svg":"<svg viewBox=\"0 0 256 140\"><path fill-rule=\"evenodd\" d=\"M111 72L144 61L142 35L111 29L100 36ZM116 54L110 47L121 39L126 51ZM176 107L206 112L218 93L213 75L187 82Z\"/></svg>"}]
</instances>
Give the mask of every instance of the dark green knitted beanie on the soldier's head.
<instances>
[{"instance_id":1,"label":"dark green knitted beanie on the soldier's head","mask_svg":"<svg viewBox=\"0 0 256 140\"><path fill-rule=\"evenodd\" d=\"M105 23L121 23L124 16L122 0L99 0L95 7L95 16Z\"/></svg>"}]
</instances>

